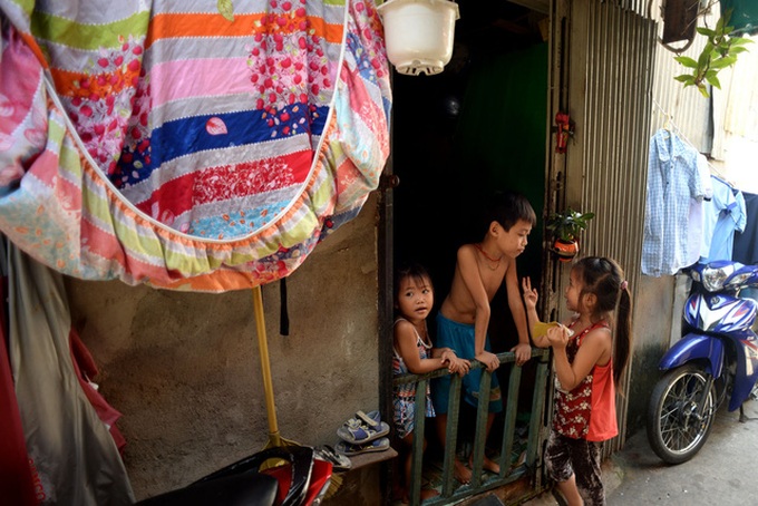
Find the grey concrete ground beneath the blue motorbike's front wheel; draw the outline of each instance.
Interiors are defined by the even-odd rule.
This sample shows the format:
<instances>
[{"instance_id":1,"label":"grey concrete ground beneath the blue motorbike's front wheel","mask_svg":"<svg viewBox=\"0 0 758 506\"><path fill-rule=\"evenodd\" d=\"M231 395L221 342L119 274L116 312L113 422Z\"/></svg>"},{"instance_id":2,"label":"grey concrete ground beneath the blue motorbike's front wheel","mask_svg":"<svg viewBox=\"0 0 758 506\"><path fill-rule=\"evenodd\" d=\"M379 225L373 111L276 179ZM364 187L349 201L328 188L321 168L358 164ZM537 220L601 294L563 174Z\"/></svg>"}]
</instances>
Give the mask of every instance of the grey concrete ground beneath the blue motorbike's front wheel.
<instances>
[{"instance_id":1,"label":"grey concrete ground beneath the blue motorbike's front wheel","mask_svg":"<svg viewBox=\"0 0 758 506\"><path fill-rule=\"evenodd\" d=\"M758 504L755 481L758 454L758 401L729 412L718 412L708 441L690 461L667 466L648 444L644 428L631 436L624 448L603 466L609 506L682 505L711 506ZM551 494L525 503L528 506L558 504Z\"/></svg>"}]
</instances>

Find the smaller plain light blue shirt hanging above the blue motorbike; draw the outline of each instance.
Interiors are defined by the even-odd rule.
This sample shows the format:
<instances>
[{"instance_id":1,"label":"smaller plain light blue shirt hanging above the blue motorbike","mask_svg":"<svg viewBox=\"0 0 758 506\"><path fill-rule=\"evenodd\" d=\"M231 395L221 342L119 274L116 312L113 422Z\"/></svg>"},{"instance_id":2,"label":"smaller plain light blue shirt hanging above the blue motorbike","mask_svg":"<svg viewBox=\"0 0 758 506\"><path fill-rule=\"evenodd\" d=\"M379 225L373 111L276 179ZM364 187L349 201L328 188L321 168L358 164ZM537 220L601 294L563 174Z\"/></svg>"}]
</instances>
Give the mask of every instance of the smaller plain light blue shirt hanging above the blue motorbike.
<instances>
[{"instance_id":1,"label":"smaller plain light blue shirt hanging above the blue motorbike","mask_svg":"<svg viewBox=\"0 0 758 506\"><path fill-rule=\"evenodd\" d=\"M720 177L711 176L711 183L713 197L703 207L703 251L708 254L701 262L732 260L735 232L742 232L747 223L742 192Z\"/></svg>"}]
</instances>

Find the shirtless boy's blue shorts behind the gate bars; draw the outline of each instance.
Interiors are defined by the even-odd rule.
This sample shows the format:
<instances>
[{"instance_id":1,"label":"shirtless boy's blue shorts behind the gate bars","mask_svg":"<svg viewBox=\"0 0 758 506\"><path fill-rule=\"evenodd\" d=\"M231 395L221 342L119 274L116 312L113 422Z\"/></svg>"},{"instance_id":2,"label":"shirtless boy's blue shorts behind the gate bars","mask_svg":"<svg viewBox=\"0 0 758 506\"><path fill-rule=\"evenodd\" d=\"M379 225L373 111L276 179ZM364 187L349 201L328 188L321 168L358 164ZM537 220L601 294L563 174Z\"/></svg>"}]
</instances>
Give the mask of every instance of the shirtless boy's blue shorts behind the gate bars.
<instances>
[{"instance_id":1,"label":"shirtless boy's blue shorts behind the gate bars","mask_svg":"<svg viewBox=\"0 0 758 506\"><path fill-rule=\"evenodd\" d=\"M475 353L474 325L458 323L437 313L437 339L435 348L450 348L458 358L474 360ZM487 335L484 349L489 351L489 335ZM472 369L463 377L464 400L476 407L479 399L479 382L484 369ZM431 380L431 403L438 415L447 413L450 397L450 374ZM497 374L493 373L489 383L489 412L503 411L503 393L497 381Z\"/></svg>"}]
</instances>

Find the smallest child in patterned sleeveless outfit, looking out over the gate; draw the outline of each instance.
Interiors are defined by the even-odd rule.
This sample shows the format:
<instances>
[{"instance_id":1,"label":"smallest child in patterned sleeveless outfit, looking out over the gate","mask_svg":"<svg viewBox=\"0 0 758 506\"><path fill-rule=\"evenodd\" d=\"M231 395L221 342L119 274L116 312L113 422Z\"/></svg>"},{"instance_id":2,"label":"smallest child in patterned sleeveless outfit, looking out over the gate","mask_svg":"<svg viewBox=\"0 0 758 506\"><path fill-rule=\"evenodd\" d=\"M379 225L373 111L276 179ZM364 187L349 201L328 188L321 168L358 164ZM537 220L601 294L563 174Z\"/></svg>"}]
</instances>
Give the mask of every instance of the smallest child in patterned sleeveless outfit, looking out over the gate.
<instances>
[{"instance_id":1,"label":"smallest child in patterned sleeveless outfit, looking out over the gate","mask_svg":"<svg viewBox=\"0 0 758 506\"><path fill-rule=\"evenodd\" d=\"M434 290L427 271L418 265L398 270L395 281L395 308L398 318L395 321L392 372L395 376L407 373L424 374L437 369L447 368L451 373L466 374L470 367L468 360L459 359L449 348L431 348L426 319L434 305ZM426 416L434 417L435 411L426 392ZM398 487L398 495L408 502L410 485L410 466L414 442L414 417L416 416L416 383L402 383L393 388L395 434L402 442L400 461L404 464L404 484ZM421 435L424 436L424 435ZM421 490L421 498L435 495L435 490Z\"/></svg>"}]
</instances>

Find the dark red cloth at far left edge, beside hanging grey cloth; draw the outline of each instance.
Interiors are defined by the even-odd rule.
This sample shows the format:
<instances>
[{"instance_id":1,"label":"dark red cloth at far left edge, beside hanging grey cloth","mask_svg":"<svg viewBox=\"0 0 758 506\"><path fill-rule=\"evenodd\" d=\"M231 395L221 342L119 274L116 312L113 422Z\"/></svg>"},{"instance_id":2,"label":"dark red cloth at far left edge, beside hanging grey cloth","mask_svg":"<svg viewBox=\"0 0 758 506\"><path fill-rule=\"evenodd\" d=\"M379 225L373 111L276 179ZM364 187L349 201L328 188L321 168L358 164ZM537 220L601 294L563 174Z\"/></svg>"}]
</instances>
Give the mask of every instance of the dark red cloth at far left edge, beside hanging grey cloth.
<instances>
[{"instance_id":1,"label":"dark red cloth at far left edge, beside hanging grey cloth","mask_svg":"<svg viewBox=\"0 0 758 506\"><path fill-rule=\"evenodd\" d=\"M0 285L0 300L4 300L4 279ZM29 466L27 442L21 427L21 416L16 400L13 377L10 371L6 342L6 309L0 306L0 497L3 504L37 505L35 481Z\"/></svg>"}]
</instances>

